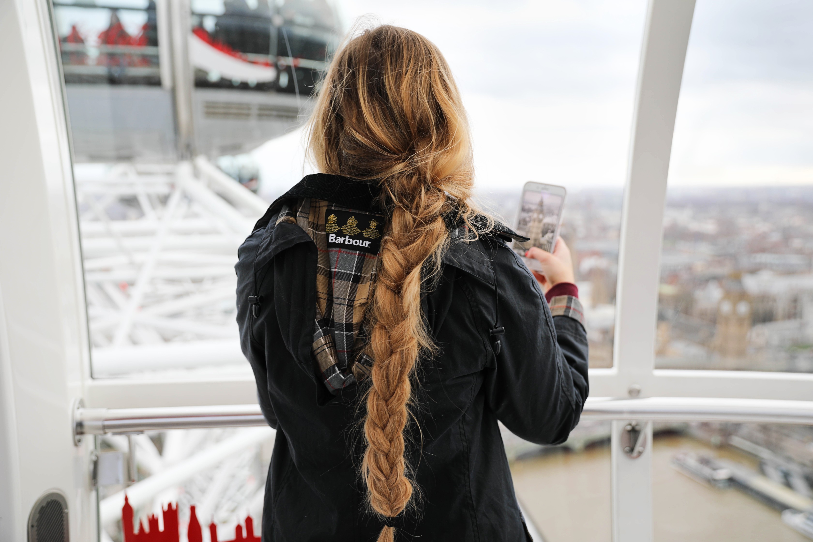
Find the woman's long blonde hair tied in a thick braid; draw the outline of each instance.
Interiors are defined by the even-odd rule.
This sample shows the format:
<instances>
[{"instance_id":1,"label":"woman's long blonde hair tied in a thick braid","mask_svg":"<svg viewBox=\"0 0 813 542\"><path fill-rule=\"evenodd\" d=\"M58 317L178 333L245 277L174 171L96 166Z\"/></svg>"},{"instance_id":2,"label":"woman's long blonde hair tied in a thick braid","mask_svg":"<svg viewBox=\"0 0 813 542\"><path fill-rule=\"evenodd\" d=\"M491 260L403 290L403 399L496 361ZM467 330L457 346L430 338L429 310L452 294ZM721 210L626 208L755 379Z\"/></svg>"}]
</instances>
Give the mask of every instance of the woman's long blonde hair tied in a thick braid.
<instances>
[{"instance_id":1,"label":"woman's long blonde hair tied in a thick braid","mask_svg":"<svg viewBox=\"0 0 813 542\"><path fill-rule=\"evenodd\" d=\"M418 33L384 25L339 50L311 117L309 147L324 173L375 181L390 224L367 314L373 365L361 475L376 514L392 518L415 489L404 457L411 375L434 345L421 314L424 277L449 242L445 217L472 231L472 148L446 59ZM389 523L389 522L388 522ZM379 542L394 539L386 526Z\"/></svg>"}]
</instances>

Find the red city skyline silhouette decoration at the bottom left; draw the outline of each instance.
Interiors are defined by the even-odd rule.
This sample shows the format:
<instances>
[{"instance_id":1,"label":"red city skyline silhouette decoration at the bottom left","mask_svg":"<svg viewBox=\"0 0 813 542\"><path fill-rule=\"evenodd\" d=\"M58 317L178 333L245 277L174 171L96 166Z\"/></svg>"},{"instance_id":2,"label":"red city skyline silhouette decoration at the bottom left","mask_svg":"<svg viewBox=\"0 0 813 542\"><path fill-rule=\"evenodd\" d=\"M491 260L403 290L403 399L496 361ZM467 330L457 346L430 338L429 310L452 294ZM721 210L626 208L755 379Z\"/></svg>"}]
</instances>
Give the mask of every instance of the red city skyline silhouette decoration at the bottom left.
<instances>
[{"instance_id":1,"label":"red city skyline silhouette decoration at the bottom left","mask_svg":"<svg viewBox=\"0 0 813 542\"><path fill-rule=\"evenodd\" d=\"M124 531L124 542L180 542L180 530L178 528L178 505L167 505L162 508L163 531L159 529L158 518L155 514L150 514L147 518L147 528L144 522L138 522L138 531L133 525L133 506L127 496L124 496L124 506L121 509L121 528ZM260 542L259 536L254 535L254 520L251 516L246 516L246 531L237 523L234 527L234 540L219 540L217 538L217 526L214 522L209 524L209 535L211 542ZM195 514L195 507L189 506L189 527L186 530L189 542L203 542L203 532Z\"/></svg>"}]
</instances>

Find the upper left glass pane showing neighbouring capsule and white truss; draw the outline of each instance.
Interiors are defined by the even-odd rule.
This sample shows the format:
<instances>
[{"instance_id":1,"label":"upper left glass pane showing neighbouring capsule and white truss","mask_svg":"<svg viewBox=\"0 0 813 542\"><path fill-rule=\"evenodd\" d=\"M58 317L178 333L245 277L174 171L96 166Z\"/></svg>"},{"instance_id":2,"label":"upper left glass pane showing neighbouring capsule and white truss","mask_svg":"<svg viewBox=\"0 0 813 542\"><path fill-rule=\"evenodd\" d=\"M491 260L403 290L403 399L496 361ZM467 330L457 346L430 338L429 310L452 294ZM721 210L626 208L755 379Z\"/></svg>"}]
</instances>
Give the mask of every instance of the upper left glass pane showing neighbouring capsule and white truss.
<instances>
[{"instance_id":1,"label":"upper left glass pane showing neighbouring capsule and white truss","mask_svg":"<svg viewBox=\"0 0 813 542\"><path fill-rule=\"evenodd\" d=\"M233 266L267 202L252 193L257 162L240 153L301 124L337 36L334 7L195 0L188 27L172 20L168 2L53 7L93 376L249 377ZM279 58L269 50L277 31L291 48ZM176 33L188 34L188 57L172 47ZM173 65L188 67L198 86L176 85ZM215 68L228 85L207 80ZM285 69L302 84L276 84ZM176 115L185 107L191 119ZM180 132L191 141L179 145Z\"/></svg>"}]
</instances>

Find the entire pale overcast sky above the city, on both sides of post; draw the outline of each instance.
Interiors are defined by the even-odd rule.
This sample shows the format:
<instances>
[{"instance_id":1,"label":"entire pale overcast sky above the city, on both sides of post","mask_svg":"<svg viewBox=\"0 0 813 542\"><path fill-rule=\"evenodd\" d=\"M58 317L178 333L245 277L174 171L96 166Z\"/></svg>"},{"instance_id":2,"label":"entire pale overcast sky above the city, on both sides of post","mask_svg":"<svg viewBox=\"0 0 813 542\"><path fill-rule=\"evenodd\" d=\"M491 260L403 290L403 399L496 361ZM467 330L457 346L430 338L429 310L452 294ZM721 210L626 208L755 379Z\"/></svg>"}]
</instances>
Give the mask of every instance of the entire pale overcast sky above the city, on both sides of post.
<instances>
[{"instance_id":1,"label":"entire pale overcast sky above the city, on both sides of post","mask_svg":"<svg viewBox=\"0 0 813 542\"><path fill-rule=\"evenodd\" d=\"M646 0L338 0L424 34L472 124L480 189L622 186ZM698 0L671 185L813 184L813 2ZM294 133L255 156L302 172ZM289 173L285 173L289 171ZM288 179L287 177L290 177Z\"/></svg>"}]
</instances>

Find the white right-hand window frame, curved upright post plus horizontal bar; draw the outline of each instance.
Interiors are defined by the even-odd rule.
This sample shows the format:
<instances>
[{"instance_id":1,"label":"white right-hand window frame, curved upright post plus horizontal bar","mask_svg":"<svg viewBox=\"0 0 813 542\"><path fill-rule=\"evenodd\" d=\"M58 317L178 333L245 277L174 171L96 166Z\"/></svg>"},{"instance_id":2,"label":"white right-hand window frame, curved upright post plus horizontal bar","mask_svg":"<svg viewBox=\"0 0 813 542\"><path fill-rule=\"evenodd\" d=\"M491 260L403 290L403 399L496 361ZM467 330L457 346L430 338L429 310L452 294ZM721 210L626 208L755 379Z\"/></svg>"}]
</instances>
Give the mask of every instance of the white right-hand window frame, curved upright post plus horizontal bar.
<instances>
[{"instance_id":1,"label":"white right-hand window frame, curved upright post plus horizontal bar","mask_svg":"<svg viewBox=\"0 0 813 542\"><path fill-rule=\"evenodd\" d=\"M663 208L693 11L694 0L650 0L647 10L621 226L614 363L612 369L591 371L591 392L608 397L811 401L813 375L654 368ZM636 459L628 457L620 446L625 423L624 418L612 423L613 540L649 542L652 447ZM644 431L651 443L651 423Z\"/></svg>"}]
</instances>

